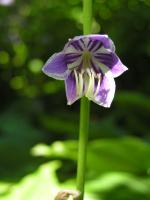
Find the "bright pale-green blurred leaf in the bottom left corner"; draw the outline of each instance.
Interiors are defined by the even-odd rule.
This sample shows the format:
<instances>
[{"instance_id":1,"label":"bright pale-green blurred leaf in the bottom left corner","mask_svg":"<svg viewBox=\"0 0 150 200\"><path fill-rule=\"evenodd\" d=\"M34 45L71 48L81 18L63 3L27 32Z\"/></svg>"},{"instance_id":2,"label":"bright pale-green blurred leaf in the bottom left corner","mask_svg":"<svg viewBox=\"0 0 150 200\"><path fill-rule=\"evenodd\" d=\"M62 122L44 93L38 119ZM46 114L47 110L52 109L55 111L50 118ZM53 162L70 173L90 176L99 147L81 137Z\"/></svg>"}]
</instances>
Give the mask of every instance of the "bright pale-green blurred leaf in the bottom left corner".
<instances>
[{"instance_id":1,"label":"bright pale-green blurred leaf in the bottom left corner","mask_svg":"<svg viewBox=\"0 0 150 200\"><path fill-rule=\"evenodd\" d=\"M17 184L12 184L10 193L1 196L1 200L48 200L53 199L58 190L55 171L60 166L57 161L44 164L31 175L26 176ZM0 183L0 187L1 184ZM7 188L6 188L7 189ZM5 193L5 191L3 191Z\"/></svg>"}]
</instances>

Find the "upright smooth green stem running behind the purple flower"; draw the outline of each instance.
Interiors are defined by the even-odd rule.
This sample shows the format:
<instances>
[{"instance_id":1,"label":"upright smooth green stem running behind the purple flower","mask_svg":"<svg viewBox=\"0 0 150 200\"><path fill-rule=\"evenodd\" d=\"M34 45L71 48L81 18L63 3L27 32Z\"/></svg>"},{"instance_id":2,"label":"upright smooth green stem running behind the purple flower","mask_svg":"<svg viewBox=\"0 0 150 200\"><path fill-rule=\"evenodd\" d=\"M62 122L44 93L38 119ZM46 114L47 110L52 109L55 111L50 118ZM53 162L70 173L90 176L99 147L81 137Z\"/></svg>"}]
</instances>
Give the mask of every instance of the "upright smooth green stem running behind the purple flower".
<instances>
[{"instance_id":1,"label":"upright smooth green stem running behind the purple flower","mask_svg":"<svg viewBox=\"0 0 150 200\"><path fill-rule=\"evenodd\" d=\"M91 33L92 0L83 0L83 34ZM83 97L80 105L80 129L77 166L77 190L80 191L80 200L84 199L84 183L86 171L86 155L89 132L90 101Z\"/></svg>"}]
</instances>

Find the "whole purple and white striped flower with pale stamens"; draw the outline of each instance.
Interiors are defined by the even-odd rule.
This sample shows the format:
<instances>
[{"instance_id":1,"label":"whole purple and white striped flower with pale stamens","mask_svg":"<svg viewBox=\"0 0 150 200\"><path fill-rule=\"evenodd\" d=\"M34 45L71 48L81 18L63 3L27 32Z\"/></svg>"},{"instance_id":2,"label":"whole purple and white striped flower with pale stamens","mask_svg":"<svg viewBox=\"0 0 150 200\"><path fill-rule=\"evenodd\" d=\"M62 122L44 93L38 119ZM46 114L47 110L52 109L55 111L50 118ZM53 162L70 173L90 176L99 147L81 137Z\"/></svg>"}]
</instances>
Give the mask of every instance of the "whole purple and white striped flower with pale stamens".
<instances>
[{"instance_id":1,"label":"whole purple and white striped flower with pale stamens","mask_svg":"<svg viewBox=\"0 0 150 200\"><path fill-rule=\"evenodd\" d=\"M110 107L114 98L114 78L126 70L107 35L69 39L64 49L51 56L43 67L46 75L65 81L69 105L86 96L104 107Z\"/></svg>"}]
</instances>

